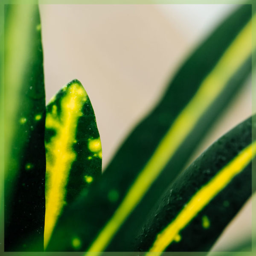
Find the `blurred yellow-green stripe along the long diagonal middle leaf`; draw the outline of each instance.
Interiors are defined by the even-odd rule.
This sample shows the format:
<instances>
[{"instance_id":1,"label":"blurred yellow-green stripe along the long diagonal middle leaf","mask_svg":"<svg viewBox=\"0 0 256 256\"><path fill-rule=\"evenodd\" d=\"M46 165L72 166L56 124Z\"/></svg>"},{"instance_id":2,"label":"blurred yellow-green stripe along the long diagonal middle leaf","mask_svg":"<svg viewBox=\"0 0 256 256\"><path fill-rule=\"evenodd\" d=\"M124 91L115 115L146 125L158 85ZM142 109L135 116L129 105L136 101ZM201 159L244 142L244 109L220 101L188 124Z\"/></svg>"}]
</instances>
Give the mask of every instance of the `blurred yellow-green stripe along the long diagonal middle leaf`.
<instances>
[{"instance_id":1,"label":"blurred yellow-green stripe along the long diagonal middle leaf","mask_svg":"<svg viewBox=\"0 0 256 256\"><path fill-rule=\"evenodd\" d=\"M100 252L108 246L116 231L143 198L145 192L147 192L189 132L195 127L205 109L212 104L224 89L230 77L236 73L250 56L252 47L251 34L250 21L224 52L215 68L202 82L195 96L163 137L163 140L161 140L151 159L138 175L137 180L129 189L119 208L89 248L89 252Z\"/></svg>"}]
</instances>

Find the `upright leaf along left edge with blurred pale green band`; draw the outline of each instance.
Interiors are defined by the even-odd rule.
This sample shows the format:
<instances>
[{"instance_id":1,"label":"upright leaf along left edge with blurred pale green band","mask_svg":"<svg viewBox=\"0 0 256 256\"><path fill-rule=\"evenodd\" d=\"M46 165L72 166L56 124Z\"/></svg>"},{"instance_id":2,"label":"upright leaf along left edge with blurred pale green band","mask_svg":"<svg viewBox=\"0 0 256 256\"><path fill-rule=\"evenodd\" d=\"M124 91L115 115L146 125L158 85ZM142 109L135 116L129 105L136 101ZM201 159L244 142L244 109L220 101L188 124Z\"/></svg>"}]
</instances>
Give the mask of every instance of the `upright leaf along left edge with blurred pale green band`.
<instances>
[{"instance_id":1,"label":"upright leaf along left edge with blurred pale green band","mask_svg":"<svg viewBox=\"0 0 256 256\"><path fill-rule=\"evenodd\" d=\"M38 6L5 5L4 33L5 251L42 251L45 93Z\"/></svg>"}]
</instances>

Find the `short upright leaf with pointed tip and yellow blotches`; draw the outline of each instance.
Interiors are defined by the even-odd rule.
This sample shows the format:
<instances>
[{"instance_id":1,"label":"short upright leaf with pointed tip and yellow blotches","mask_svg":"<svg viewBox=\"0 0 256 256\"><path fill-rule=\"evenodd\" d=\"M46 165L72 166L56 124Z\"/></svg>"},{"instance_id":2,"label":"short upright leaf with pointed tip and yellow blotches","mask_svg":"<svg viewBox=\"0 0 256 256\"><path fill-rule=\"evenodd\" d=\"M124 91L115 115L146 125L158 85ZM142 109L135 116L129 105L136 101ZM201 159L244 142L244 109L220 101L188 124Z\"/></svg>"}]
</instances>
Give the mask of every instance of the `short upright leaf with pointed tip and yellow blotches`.
<instances>
[{"instance_id":1,"label":"short upright leaf with pointed tip and yellow blotches","mask_svg":"<svg viewBox=\"0 0 256 256\"><path fill-rule=\"evenodd\" d=\"M102 148L93 107L78 80L51 99L45 126L46 247L63 208L101 176Z\"/></svg>"}]
</instances>

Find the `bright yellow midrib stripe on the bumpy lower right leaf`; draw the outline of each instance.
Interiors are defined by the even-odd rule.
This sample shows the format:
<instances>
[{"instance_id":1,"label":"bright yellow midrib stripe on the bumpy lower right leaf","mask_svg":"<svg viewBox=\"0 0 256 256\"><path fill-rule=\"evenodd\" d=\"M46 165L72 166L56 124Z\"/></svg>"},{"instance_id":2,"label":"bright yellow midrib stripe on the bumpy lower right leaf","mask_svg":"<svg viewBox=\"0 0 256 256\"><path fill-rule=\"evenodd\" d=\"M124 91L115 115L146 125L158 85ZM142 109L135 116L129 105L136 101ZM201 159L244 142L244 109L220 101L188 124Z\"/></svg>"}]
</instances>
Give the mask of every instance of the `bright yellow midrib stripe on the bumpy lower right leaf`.
<instances>
[{"instance_id":1,"label":"bright yellow midrib stripe on the bumpy lower right leaf","mask_svg":"<svg viewBox=\"0 0 256 256\"><path fill-rule=\"evenodd\" d=\"M159 256L182 230L237 174L250 163L256 154L256 142L244 148L227 166L218 172L205 186L190 199L186 206L161 233L157 235L149 252ZM147 256L150 253L146 254Z\"/></svg>"}]
</instances>

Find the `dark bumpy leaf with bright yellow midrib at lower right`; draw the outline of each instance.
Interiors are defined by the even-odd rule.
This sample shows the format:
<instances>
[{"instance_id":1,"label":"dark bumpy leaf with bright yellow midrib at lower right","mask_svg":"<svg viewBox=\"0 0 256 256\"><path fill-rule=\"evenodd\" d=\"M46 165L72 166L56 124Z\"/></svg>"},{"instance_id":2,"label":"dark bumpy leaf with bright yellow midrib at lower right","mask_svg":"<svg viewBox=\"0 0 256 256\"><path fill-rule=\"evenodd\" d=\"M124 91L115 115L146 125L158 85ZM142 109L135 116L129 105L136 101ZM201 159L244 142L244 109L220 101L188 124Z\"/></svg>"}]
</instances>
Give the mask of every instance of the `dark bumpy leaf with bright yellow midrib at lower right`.
<instances>
[{"instance_id":1,"label":"dark bumpy leaf with bright yellow midrib at lower right","mask_svg":"<svg viewBox=\"0 0 256 256\"><path fill-rule=\"evenodd\" d=\"M256 123L253 124L256 129ZM208 251L252 193L256 155L251 118L225 134L169 187L141 230L135 251Z\"/></svg>"}]
</instances>

